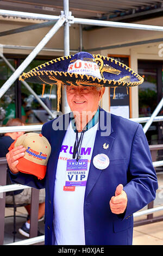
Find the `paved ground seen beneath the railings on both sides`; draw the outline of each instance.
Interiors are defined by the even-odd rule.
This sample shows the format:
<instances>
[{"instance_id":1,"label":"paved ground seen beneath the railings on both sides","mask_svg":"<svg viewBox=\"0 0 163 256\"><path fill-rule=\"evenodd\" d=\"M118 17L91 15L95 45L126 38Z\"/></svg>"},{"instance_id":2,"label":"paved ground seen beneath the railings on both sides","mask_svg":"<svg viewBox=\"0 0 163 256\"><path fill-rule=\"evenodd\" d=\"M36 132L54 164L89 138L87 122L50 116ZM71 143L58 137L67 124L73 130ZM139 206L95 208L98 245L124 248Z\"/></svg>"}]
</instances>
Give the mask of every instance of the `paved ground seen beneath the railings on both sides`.
<instances>
[{"instance_id":1,"label":"paved ground seen beneath the railings on both sides","mask_svg":"<svg viewBox=\"0 0 163 256\"><path fill-rule=\"evenodd\" d=\"M158 182L159 182L159 189L156 193L154 207L163 206L163 174L158 174ZM142 210L145 210L145 209L142 209ZM17 214L22 216L27 216L26 209L23 207L18 208ZM162 214L163 214L163 211L155 212L154 217L161 216ZM6 209L5 216L9 216L9 215L12 215L12 209ZM141 216L141 217L135 218L134 220L137 221L145 218L146 216ZM4 245L13 242L12 220L13 220L12 217L5 218ZM17 217L16 219L16 229L17 229L16 241L27 239L26 237L18 233L18 228L21 227L24 221L25 221L24 218ZM43 229L44 229L43 221L39 222L39 229L41 232L43 232ZM163 221L135 227L134 234L133 234L133 245L163 245Z\"/></svg>"}]
</instances>

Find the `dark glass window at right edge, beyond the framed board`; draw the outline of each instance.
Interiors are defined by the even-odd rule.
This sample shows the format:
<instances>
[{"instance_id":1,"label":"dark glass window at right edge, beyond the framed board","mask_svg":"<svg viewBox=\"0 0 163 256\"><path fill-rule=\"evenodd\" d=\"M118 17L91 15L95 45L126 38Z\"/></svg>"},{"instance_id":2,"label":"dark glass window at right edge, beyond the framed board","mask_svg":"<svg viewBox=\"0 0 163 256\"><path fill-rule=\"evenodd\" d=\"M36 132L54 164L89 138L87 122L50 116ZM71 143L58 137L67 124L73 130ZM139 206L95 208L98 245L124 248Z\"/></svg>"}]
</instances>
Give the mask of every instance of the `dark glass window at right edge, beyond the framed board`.
<instances>
[{"instance_id":1,"label":"dark glass window at right edge, beyond the framed board","mask_svg":"<svg viewBox=\"0 0 163 256\"><path fill-rule=\"evenodd\" d=\"M139 60L138 74L144 78L139 86L139 117L151 117L162 99L162 62ZM163 108L158 115L162 114ZM162 122L153 122L146 132L149 145L162 144ZM144 123L142 124L145 125Z\"/></svg>"}]
</instances>

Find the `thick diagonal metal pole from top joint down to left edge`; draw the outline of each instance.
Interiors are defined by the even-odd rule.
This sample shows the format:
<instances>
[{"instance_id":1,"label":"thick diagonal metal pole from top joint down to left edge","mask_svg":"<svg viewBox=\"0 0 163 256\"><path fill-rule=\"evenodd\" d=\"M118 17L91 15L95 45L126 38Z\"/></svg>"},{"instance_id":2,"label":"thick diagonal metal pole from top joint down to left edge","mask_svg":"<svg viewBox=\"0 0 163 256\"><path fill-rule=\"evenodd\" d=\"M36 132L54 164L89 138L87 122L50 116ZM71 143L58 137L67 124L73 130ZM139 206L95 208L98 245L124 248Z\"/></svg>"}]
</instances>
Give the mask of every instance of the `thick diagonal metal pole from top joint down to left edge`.
<instances>
[{"instance_id":1,"label":"thick diagonal metal pole from top joint down to left edge","mask_svg":"<svg viewBox=\"0 0 163 256\"><path fill-rule=\"evenodd\" d=\"M39 44L34 48L34 50L28 55L28 57L22 62L18 69L10 76L10 78L3 84L0 88L0 99L5 92L10 88L11 84L15 82L18 76L27 68L30 62L36 57L36 55L42 50L42 48L47 44L47 42L52 38L52 36L58 31L58 29L64 24L65 17L60 17L60 19L55 23L55 25L50 29L50 31L43 37Z\"/></svg>"}]
</instances>

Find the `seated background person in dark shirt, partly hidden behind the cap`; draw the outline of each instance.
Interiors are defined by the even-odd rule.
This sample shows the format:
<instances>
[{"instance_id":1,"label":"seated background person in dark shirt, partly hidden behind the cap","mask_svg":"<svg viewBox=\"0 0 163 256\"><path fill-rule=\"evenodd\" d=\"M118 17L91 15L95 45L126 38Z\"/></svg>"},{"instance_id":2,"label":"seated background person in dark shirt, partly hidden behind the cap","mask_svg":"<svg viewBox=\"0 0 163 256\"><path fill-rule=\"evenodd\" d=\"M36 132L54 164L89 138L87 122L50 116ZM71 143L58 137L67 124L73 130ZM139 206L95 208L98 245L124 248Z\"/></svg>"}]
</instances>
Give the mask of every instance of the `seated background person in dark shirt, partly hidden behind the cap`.
<instances>
[{"instance_id":1,"label":"seated background person in dark shirt, partly hidden behind the cap","mask_svg":"<svg viewBox=\"0 0 163 256\"><path fill-rule=\"evenodd\" d=\"M23 121L19 118L12 118L8 120L6 127L9 126L22 126L24 125ZM15 131L15 132L7 132L4 133L4 136L0 137L0 157L5 157L6 154L9 152L8 148L18 137L24 134L24 131ZM7 173L7 185L10 185L11 181L9 179L9 175ZM26 236L29 237L29 230L30 230L30 197L31 197L31 188L27 188L26 190L17 190L11 191L6 193L6 203L13 204L13 193L15 198L15 204L27 204L24 206L28 212L28 217L26 223L22 225L18 231ZM45 213L45 190L40 190L39 194L39 215L38 220L43 220ZM38 230L38 235L42 235Z\"/></svg>"}]
</instances>

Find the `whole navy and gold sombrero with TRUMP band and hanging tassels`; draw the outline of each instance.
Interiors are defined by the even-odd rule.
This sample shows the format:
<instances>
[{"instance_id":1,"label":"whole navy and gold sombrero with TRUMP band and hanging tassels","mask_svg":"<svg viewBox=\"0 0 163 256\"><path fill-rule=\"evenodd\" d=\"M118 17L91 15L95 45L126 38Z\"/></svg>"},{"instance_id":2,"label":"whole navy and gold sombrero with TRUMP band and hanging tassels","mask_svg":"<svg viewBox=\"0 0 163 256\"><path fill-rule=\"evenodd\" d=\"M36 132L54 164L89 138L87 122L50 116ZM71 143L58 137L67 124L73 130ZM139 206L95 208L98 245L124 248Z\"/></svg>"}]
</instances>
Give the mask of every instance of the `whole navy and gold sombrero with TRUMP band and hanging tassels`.
<instances>
[{"instance_id":1,"label":"whole navy and gold sombrero with TRUMP band and hanging tassels","mask_svg":"<svg viewBox=\"0 0 163 256\"><path fill-rule=\"evenodd\" d=\"M73 86L104 86L131 87L143 82L143 78L127 65L110 57L88 52L78 52L74 55L52 59L27 73L23 73L21 81L50 84L58 86L58 108L61 97L60 88ZM52 88L52 87L51 87Z\"/></svg>"}]
</instances>

